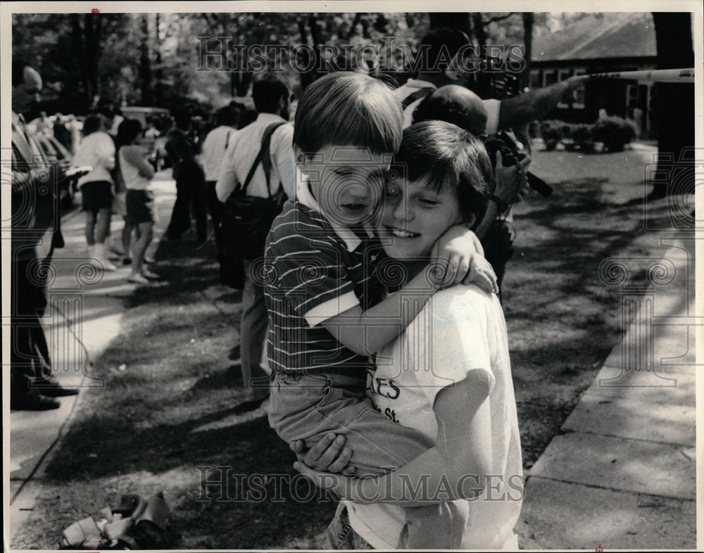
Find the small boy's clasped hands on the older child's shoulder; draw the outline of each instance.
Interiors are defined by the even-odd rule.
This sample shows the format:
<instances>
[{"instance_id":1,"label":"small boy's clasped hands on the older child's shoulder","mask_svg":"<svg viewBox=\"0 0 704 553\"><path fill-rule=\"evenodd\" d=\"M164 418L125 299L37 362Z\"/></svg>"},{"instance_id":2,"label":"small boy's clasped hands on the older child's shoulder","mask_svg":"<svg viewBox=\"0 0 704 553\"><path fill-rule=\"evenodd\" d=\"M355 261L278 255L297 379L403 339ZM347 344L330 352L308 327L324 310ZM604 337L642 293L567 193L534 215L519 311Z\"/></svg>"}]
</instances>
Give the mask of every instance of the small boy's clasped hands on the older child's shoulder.
<instances>
[{"instance_id":1,"label":"small boy's clasped hands on the older child's shoulder","mask_svg":"<svg viewBox=\"0 0 704 553\"><path fill-rule=\"evenodd\" d=\"M450 227L435 243L432 257L446 267L440 288L471 282L489 293L498 293L494 269L484 258L482 243L469 229L460 225Z\"/></svg>"}]
</instances>

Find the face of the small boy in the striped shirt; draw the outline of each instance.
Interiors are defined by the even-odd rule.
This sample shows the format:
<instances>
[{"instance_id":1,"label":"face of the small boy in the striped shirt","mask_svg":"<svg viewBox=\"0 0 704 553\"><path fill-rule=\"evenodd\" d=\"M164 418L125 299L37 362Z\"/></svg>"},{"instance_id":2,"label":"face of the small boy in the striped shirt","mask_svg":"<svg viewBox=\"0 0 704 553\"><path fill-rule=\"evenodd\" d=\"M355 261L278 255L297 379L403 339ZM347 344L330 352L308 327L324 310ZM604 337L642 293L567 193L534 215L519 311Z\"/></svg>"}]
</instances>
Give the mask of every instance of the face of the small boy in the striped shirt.
<instances>
[{"instance_id":1,"label":"face of the small boy in the striped shirt","mask_svg":"<svg viewBox=\"0 0 704 553\"><path fill-rule=\"evenodd\" d=\"M297 152L301 155L300 152ZM298 164L308 176L320 210L334 227L376 226L389 154L329 144Z\"/></svg>"}]
</instances>

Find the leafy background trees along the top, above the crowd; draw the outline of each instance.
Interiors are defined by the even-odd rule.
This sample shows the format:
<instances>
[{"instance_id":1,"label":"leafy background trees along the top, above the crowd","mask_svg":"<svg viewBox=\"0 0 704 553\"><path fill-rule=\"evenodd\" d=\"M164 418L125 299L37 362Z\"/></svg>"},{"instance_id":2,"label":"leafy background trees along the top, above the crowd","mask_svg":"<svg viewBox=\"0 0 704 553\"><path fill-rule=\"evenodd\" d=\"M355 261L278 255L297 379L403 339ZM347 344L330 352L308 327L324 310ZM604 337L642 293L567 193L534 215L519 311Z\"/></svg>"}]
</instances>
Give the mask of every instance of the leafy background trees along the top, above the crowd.
<instances>
[{"instance_id":1,"label":"leafy background trees along the top, above the crowd","mask_svg":"<svg viewBox=\"0 0 704 553\"><path fill-rule=\"evenodd\" d=\"M18 14L13 16L13 56L42 73L44 109L82 114L101 98L127 105L172 108L184 101L221 106L245 96L256 77L246 70L197 70L199 47L227 37L251 47L288 48L268 56L268 70L281 69L294 94L300 94L325 69L325 46L337 46L339 67L353 69L367 44L394 37L387 69L403 70L403 49L415 51L432 24L462 20L470 36L490 43L522 44L520 13L101 13ZM547 18L542 14L543 19ZM536 14L535 25L543 23ZM481 21L482 32L477 31ZM292 46L299 49L289 59ZM323 49L321 50L321 47ZM279 59L276 60L276 56ZM308 59L306 59L306 56ZM310 59L310 56L314 56ZM246 56L245 56L246 57ZM229 53L230 63L234 56ZM246 59L244 60L246 61ZM313 70L301 72L308 63ZM296 65L297 64L297 65Z\"/></svg>"}]
</instances>

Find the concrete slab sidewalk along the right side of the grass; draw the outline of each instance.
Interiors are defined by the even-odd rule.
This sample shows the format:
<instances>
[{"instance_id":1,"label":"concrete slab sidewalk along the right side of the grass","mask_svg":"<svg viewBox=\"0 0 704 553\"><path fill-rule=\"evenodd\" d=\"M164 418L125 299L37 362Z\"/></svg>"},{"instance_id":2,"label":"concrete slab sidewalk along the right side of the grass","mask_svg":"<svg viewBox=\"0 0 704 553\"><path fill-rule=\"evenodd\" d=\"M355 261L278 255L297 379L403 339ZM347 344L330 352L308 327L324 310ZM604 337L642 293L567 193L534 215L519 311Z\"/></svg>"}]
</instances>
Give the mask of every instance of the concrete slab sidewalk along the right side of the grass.
<instances>
[{"instance_id":1,"label":"concrete slab sidewalk along the right side of the grass","mask_svg":"<svg viewBox=\"0 0 704 553\"><path fill-rule=\"evenodd\" d=\"M621 286L630 325L527 471L522 548L696 547L695 243L660 239L641 288L618 268L605 279Z\"/></svg>"}]
</instances>

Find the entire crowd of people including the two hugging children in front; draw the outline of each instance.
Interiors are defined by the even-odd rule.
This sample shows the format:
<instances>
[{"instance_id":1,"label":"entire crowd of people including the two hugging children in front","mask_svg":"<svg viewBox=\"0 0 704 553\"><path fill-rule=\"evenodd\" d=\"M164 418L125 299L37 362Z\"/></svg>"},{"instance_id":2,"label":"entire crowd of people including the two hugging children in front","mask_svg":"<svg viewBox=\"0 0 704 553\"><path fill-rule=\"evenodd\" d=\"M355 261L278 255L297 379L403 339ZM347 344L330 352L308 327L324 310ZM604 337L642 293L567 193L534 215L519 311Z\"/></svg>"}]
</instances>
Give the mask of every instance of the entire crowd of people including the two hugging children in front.
<instances>
[{"instance_id":1,"label":"entire crowd of people including the two hugging children in front","mask_svg":"<svg viewBox=\"0 0 704 553\"><path fill-rule=\"evenodd\" d=\"M423 43L432 56L467 41L436 29ZM75 153L89 166L77 186L91 257L116 268L106 241L118 205L129 279L146 284L158 278L146 250L152 143L163 139L177 191L166 236L181 239L194 220L202 245L209 215L221 279L242 290L233 345L244 386L251 400L268 398L298 470L343 498L334 549L517 547L521 449L498 297L507 217L527 193L520 127L581 80L499 101L439 65L395 90L363 72L325 75L303 91L293 124L275 75L254 82L256 113L231 103L207 133L187 109L151 136L96 109ZM13 298L26 299L11 326L13 409L55 408L77 391L51 376L39 322L46 281L34 265L61 247L60 216L37 196L22 208L41 177L21 113L41 86L36 70L13 63L12 280ZM522 155L507 165L482 137L509 129ZM407 497L406 482L422 475L430 490L444 478L446 493Z\"/></svg>"}]
</instances>

